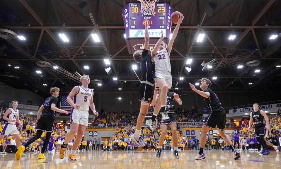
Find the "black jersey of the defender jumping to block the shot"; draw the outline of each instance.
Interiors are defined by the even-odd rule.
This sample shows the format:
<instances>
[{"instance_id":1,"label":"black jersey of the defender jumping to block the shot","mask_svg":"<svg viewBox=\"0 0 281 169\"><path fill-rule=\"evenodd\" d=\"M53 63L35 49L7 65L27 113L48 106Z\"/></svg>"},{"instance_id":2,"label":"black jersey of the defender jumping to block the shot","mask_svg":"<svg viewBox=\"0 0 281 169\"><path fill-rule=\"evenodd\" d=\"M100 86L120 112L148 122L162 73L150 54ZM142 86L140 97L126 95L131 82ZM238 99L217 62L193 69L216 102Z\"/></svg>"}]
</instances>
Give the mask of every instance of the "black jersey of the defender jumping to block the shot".
<instances>
[{"instance_id":1,"label":"black jersey of the defender jumping to block the shot","mask_svg":"<svg viewBox=\"0 0 281 169\"><path fill-rule=\"evenodd\" d=\"M154 84L153 72L155 68L148 55L148 50L143 49L142 51L142 57L140 59L140 67L142 73L142 81L148 81Z\"/></svg>"}]
</instances>

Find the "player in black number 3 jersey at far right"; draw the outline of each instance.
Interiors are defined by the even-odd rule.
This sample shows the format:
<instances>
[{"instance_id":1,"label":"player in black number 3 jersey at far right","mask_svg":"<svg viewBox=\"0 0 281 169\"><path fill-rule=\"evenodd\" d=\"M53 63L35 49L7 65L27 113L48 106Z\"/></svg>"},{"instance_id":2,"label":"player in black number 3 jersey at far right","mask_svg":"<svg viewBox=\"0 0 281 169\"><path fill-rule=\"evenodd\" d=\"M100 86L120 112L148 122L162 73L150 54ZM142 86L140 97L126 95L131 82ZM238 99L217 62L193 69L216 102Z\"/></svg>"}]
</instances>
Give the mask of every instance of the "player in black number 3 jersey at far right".
<instances>
[{"instance_id":1,"label":"player in black number 3 jersey at far right","mask_svg":"<svg viewBox=\"0 0 281 169\"><path fill-rule=\"evenodd\" d=\"M251 119L249 124L252 124L252 122L254 122L256 138L258 142L263 146L263 151L261 152L261 154L268 155L269 150L263 137L265 136L265 134L267 134L268 129L270 129L269 121L265 112L263 110L259 110L259 107L260 106L257 103L253 105L254 111L252 111L250 114ZM248 127L248 130L250 129L251 127Z\"/></svg>"}]
</instances>

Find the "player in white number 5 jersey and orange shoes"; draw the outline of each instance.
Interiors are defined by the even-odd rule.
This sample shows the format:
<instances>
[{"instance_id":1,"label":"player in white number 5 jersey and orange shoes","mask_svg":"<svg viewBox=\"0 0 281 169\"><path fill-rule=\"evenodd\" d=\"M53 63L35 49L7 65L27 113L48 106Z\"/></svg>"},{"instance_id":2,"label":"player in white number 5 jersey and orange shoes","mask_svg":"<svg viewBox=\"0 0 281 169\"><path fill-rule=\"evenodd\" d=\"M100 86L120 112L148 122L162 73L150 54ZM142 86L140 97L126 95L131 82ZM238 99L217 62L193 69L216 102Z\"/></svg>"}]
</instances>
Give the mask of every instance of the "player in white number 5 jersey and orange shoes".
<instances>
[{"instance_id":1,"label":"player in white number 5 jersey and orange shoes","mask_svg":"<svg viewBox=\"0 0 281 169\"><path fill-rule=\"evenodd\" d=\"M67 97L67 102L72 106L70 115L70 131L65 136L65 140L61 145L61 150L59 151L59 158L64 158L64 151L67 148L67 144L77 132L72 151L68 156L68 160L70 161L77 161L77 158L75 158L75 151L80 145L84 131L88 126L89 107L91 107L94 114L98 116L98 112L96 112L96 108L93 103L93 90L88 88L88 84L90 83L89 75L83 75L80 81L82 86L75 86Z\"/></svg>"}]
</instances>

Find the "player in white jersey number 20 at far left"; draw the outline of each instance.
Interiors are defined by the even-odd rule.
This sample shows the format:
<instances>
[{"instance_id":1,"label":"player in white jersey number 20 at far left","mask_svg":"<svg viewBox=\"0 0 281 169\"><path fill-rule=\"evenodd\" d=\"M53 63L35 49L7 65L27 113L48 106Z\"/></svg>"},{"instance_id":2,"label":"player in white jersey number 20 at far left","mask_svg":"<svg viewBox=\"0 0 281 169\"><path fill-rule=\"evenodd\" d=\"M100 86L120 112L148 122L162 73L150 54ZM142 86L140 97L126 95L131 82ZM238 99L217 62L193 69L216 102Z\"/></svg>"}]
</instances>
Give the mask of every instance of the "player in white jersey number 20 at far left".
<instances>
[{"instance_id":1,"label":"player in white jersey number 20 at far left","mask_svg":"<svg viewBox=\"0 0 281 169\"><path fill-rule=\"evenodd\" d=\"M19 127L22 127L22 124L18 118L18 101L12 101L12 107L13 108L9 108L3 115L3 119L6 120L6 123L1 131L0 140L9 134L13 134L13 136L16 138L16 145L18 148L21 143L21 137L16 127L16 122L18 122ZM4 153L6 152L4 151Z\"/></svg>"}]
</instances>

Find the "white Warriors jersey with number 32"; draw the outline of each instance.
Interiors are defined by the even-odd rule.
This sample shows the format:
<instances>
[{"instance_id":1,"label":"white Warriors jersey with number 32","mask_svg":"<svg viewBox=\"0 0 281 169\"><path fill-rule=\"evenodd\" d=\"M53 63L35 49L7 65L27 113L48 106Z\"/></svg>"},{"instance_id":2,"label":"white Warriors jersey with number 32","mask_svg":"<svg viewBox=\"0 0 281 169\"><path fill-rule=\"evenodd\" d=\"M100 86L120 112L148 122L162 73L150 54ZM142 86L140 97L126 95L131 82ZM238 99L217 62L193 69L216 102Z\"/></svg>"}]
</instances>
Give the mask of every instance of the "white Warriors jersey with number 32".
<instances>
[{"instance_id":1,"label":"white Warriors jersey with number 32","mask_svg":"<svg viewBox=\"0 0 281 169\"><path fill-rule=\"evenodd\" d=\"M152 51L151 51L152 53ZM152 55L151 55L152 56ZM170 63L170 54L168 53L167 48L165 47L161 51L157 51L154 56L152 56L155 63L155 70L158 71L167 71L171 73L171 63Z\"/></svg>"}]
</instances>

